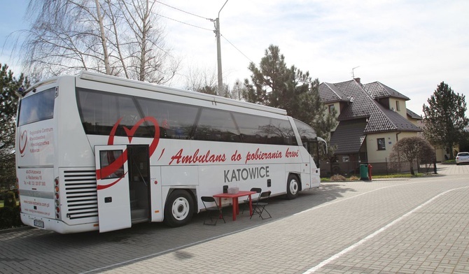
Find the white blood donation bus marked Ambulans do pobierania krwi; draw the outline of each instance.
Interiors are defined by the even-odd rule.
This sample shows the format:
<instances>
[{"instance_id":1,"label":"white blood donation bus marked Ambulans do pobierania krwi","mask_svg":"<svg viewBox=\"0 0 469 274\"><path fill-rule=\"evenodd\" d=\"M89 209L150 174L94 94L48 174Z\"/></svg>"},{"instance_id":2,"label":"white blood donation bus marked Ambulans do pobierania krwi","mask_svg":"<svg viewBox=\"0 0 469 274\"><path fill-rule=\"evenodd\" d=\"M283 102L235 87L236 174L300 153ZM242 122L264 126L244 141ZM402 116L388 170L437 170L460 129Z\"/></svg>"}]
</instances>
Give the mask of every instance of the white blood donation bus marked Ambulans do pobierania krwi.
<instances>
[{"instance_id":1,"label":"white blood donation bus marked Ambulans do pobierania krwi","mask_svg":"<svg viewBox=\"0 0 469 274\"><path fill-rule=\"evenodd\" d=\"M227 187L294 199L320 185L307 151L316 133L285 110L86 71L18 94L16 171L29 226L181 226L201 196Z\"/></svg>"}]
</instances>

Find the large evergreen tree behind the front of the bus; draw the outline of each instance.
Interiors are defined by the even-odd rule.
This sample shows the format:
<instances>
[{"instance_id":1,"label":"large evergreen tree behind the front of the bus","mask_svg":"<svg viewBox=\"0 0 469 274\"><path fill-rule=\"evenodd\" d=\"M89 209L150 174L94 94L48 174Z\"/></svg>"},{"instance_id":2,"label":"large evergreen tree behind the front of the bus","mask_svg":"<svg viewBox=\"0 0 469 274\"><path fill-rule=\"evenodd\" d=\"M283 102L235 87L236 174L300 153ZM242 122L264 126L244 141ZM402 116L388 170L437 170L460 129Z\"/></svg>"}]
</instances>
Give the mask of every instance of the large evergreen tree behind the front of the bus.
<instances>
[{"instance_id":1,"label":"large evergreen tree behind the front of the bus","mask_svg":"<svg viewBox=\"0 0 469 274\"><path fill-rule=\"evenodd\" d=\"M279 47L269 45L259 66L251 62L251 82L244 80L243 97L251 103L259 103L274 108L283 108L288 115L309 124L316 134L327 138L337 123L332 113L319 96L319 80L312 80L309 72L303 73L295 66L288 66Z\"/></svg>"}]
</instances>

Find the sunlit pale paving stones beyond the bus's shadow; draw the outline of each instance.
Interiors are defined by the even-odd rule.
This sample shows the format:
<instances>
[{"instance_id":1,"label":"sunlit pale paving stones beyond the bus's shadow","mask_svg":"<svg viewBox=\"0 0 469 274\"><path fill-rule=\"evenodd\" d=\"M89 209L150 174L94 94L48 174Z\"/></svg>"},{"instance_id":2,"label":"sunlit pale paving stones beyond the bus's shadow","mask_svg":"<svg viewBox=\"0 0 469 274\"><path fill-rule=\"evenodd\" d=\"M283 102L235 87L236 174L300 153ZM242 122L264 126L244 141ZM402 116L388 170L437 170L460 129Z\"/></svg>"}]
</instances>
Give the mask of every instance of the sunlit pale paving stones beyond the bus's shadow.
<instances>
[{"instance_id":1,"label":"sunlit pale paving stones beyond the bus's shadow","mask_svg":"<svg viewBox=\"0 0 469 274\"><path fill-rule=\"evenodd\" d=\"M461 172L468 166L440 169ZM360 194L106 273L469 273L469 184L452 179L344 183Z\"/></svg>"}]
</instances>

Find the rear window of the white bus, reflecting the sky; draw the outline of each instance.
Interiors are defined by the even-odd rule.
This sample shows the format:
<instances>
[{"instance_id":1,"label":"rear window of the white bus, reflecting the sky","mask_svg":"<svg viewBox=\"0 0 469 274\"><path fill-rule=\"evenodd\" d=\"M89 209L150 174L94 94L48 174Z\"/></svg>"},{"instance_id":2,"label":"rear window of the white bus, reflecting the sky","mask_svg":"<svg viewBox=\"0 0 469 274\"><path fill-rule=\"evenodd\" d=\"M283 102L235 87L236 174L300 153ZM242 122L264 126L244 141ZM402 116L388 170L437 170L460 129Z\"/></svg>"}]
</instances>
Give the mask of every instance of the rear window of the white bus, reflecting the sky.
<instances>
[{"instance_id":1,"label":"rear window of the white bus, reflecting the sky","mask_svg":"<svg viewBox=\"0 0 469 274\"><path fill-rule=\"evenodd\" d=\"M54 117L55 87L21 100L18 126Z\"/></svg>"}]
</instances>

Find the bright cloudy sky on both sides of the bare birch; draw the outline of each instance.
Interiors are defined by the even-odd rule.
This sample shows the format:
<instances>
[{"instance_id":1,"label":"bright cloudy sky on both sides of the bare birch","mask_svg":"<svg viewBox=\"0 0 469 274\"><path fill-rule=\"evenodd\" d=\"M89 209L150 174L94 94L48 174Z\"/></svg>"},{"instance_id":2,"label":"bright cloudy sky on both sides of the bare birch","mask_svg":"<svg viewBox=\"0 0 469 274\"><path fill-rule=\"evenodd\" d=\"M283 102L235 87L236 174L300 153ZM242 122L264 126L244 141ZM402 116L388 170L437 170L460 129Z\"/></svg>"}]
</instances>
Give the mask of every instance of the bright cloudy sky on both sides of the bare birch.
<instances>
[{"instance_id":1,"label":"bright cloudy sky on both sides of the bare birch","mask_svg":"<svg viewBox=\"0 0 469 274\"><path fill-rule=\"evenodd\" d=\"M10 2L6 4L6 2ZM11 54L15 31L27 29L27 0L2 0L0 63L21 68ZM469 1L467 0L156 0L165 42L181 59L179 75L217 73L214 22L220 20L223 82L251 79L269 45L287 66L319 82L379 81L422 106L445 82L469 100ZM224 6L223 6L224 5ZM222 8L223 7L223 8ZM172 86L183 87L182 78ZM469 116L469 111L466 116Z\"/></svg>"}]
</instances>

